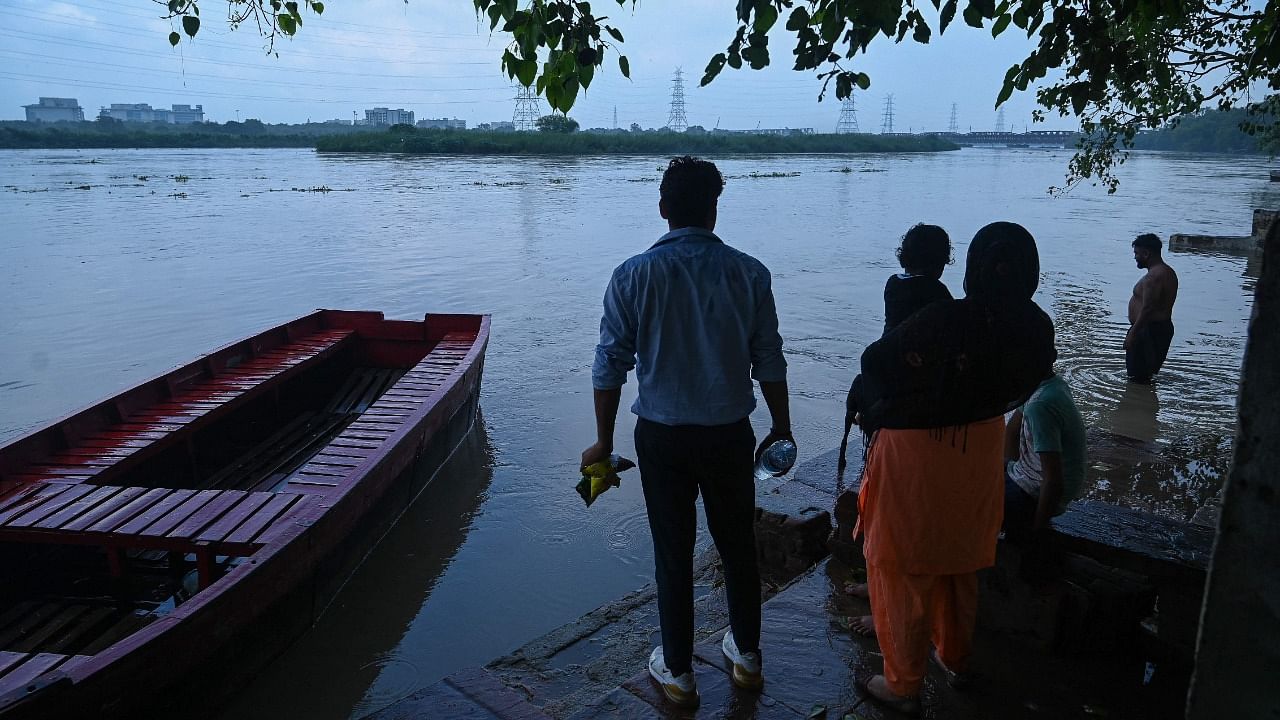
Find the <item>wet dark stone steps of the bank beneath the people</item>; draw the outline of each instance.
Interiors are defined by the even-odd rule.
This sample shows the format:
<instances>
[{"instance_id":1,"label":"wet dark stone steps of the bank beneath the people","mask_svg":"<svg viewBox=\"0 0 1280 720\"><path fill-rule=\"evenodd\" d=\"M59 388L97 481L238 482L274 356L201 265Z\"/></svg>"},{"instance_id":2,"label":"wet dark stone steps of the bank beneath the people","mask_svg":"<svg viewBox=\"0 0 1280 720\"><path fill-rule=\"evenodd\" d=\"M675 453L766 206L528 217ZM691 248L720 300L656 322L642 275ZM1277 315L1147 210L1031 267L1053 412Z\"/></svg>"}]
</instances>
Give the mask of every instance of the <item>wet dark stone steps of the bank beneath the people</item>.
<instances>
[{"instance_id":1,"label":"wet dark stone steps of the bank beneath the people","mask_svg":"<svg viewBox=\"0 0 1280 720\"><path fill-rule=\"evenodd\" d=\"M1091 452L1112 465L1156 464L1166 473L1178 462L1156 446L1106 433L1091 437ZM865 579L860 548L849 541L859 475L856 457L841 471L829 451L803 462L794 477L758 487L767 678L760 694L728 682L718 642L728 625L724 588L709 550L695 561L694 671L703 696L696 714L667 703L644 669L660 642L650 585L367 720L896 717L852 683L856 666L879 664L877 641L849 625L869 606L845 591ZM833 505L835 524L827 510ZM1117 512L1133 515L1124 533L1114 527ZM1043 573L1034 585L1024 580L1024 548L1007 542L996 566L979 573L977 682L957 692L931 666L927 717L1157 720L1180 714L1192 650L1184 641L1194 641L1212 529L1084 501L1073 503L1055 530L1060 557L1052 580ZM815 543L819 536L826 541Z\"/></svg>"}]
</instances>

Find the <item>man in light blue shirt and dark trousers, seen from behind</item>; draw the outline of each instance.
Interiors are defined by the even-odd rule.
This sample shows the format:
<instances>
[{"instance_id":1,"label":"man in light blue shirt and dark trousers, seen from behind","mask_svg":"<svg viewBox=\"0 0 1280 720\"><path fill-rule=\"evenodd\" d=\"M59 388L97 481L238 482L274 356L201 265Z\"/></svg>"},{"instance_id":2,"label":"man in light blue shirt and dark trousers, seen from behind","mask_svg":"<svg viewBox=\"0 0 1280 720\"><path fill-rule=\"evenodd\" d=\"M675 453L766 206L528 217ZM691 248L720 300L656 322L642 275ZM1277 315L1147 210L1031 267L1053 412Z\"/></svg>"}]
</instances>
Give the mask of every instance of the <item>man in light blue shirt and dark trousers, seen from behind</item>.
<instances>
[{"instance_id":1,"label":"man in light blue shirt and dark trousers, seen from behind","mask_svg":"<svg viewBox=\"0 0 1280 720\"><path fill-rule=\"evenodd\" d=\"M649 673L667 698L698 706L692 673L692 557L699 492L724 564L731 630L722 648L739 687L759 689L760 575L755 564L755 457L791 437L787 364L769 270L712 232L724 179L714 164L671 161L658 210L668 232L613 272L595 348L596 442L582 466L613 451L622 384L640 384L635 445L653 533L662 646ZM755 448L751 379L773 425Z\"/></svg>"}]
</instances>

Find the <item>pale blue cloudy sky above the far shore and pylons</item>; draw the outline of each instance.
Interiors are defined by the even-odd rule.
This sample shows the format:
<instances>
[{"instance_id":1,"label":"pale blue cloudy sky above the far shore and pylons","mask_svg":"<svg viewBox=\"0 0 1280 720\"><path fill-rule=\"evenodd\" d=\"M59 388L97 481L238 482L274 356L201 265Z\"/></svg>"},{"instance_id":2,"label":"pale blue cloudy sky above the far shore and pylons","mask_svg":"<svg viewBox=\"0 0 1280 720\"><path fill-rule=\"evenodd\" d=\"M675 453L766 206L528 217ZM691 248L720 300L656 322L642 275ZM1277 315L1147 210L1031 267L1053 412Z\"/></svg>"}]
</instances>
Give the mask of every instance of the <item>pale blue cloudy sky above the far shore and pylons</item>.
<instances>
[{"instance_id":1,"label":"pale blue cloudy sky above the far shore and pylons","mask_svg":"<svg viewBox=\"0 0 1280 720\"><path fill-rule=\"evenodd\" d=\"M506 38L490 36L470 0L328 0L324 15L305 14L297 37L276 44L279 56L266 55L255 27L232 31L221 0L201 6L197 38L170 49L174 28L151 0L0 0L0 119L22 119L22 105L40 96L76 97L88 119L111 102L200 104L216 122L351 119L372 106L468 126L512 118L515 88L500 69ZM733 36L733 8L732 0L644 0L634 10L598 1L596 12L607 9L626 37L631 79L611 55L570 115L582 127L612 127L617 109L618 127L662 127L682 67L690 124L833 131L840 102L835 92L819 102L813 73L791 69L785 19L772 33L771 68L726 68L698 87L707 61ZM960 18L927 46L878 38L854 65L872 77L856 96L860 129L881 131L888 94L897 132L946 129L952 104L961 131L993 129L1000 81L1029 47L1016 28L992 40ZM1009 128L1028 126L1033 106L1030 94L1006 102ZM1041 127L1075 123L1051 118Z\"/></svg>"}]
</instances>

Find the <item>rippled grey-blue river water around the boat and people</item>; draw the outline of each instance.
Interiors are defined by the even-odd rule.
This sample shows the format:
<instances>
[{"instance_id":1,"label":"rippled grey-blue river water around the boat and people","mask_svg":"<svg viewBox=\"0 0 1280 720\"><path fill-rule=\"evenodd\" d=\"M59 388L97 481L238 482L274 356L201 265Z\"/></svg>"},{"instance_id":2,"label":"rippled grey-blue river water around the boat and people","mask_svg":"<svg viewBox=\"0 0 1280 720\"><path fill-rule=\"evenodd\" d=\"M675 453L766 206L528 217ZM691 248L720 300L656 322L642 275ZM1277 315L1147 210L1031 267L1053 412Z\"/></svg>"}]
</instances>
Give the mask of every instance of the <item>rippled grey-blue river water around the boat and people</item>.
<instances>
[{"instance_id":1,"label":"rippled grey-blue river water around the boat and people","mask_svg":"<svg viewBox=\"0 0 1280 720\"><path fill-rule=\"evenodd\" d=\"M893 247L943 225L1037 237L1037 301L1087 421L1156 441L1176 473L1098 468L1091 497L1188 518L1230 446L1254 264L1170 254L1170 359L1124 379L1139 232L1247 234L1280 183L1251 158L1137 154L1120 192L1060 184L1070 154L965 149L744 156L718 233L774 277L805 454L838 442L845 388L882 327ZM662 232L660 158L325 156L298 150L0 152L0 441L315 307L492 313L483 427L321 621L227 719L361 716L480 665L650 579L639 477L590 510L590 363L612 268ZM634 383L623 407L634 397ZM763 409L754 418L767 427ZM618 450L631 452L630 415Z\"/></svg>"}]
</instances>

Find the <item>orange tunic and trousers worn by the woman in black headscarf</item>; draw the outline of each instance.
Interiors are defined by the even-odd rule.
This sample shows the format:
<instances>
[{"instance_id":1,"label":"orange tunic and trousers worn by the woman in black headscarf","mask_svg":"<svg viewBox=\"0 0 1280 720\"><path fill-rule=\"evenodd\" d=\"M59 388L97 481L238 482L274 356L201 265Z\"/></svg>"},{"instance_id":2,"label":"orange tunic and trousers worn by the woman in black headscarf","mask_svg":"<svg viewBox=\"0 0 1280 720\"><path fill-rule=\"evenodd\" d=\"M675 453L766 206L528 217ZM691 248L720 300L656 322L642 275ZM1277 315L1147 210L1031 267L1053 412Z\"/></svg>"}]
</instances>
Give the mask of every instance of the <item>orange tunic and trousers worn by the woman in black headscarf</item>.
<instances>
[{"instance_id":1,"label":"orange tunic and trousers worn by the woman in black headscarf","mask_svg":"<svg viewBox=\"0 0 1280 720\"><path fill-rule=\"evenodd\" d=\"M881 429L858 493L867 584L884 679L915 696L929 646L969 661L980 568L995 564L1004 515L1004 416L934 429Z\"/></svg>"}]
</instances>

